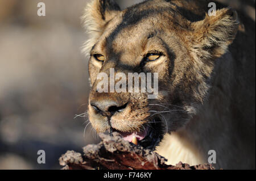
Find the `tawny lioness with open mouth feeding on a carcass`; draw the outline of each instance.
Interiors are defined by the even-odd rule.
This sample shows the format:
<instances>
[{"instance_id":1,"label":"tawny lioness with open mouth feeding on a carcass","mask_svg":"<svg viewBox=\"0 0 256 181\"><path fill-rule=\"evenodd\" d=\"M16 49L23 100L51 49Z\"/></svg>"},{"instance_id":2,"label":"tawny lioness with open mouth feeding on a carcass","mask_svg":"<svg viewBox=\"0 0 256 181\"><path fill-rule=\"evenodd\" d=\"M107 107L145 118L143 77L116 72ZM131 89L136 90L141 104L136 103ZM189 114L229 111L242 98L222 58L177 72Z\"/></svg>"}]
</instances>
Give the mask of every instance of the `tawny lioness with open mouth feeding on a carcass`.
<instances>
[{"instance_id":1,"label":"tawny lioness with open mouth feeding on a carcass","mask_svg":"<svg viewBox=\"0 0 256 181\"><path fill-rule=\"evenodd\" d=\"M209 15L209 2L149 0L122 11L113 0L89 3L89 120L172 165L214 162L216 153L217 169L255 169L255 23L220 3ZM113 68L158 73L156 99L97 91L97 75Z\"/></svg>"}]
</instances>

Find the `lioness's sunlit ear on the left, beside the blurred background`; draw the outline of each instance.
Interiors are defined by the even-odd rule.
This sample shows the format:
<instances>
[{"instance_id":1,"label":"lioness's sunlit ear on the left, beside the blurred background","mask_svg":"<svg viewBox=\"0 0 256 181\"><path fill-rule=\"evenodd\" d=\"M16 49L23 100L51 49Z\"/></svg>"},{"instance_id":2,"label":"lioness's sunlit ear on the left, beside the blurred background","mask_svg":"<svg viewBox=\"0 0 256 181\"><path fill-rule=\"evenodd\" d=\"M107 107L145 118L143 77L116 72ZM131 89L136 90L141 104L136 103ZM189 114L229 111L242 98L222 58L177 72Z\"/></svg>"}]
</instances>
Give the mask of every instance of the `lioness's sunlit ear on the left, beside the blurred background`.
<instances>
[{"instance_id":1,"label":"lioness's sunlit ear on the left, beside the blurred background","mask_svg":"<svg viewBox=\"0 0 256 181\"><path fill-rule=\"evenodd\" d=\"M120 11L120 7L114 0L93 0L88 3L82 21L90 34L90 39L85 44L84 51L93 47L104 32L106 23L117 16Z\"/></svg>"}]
</instances>

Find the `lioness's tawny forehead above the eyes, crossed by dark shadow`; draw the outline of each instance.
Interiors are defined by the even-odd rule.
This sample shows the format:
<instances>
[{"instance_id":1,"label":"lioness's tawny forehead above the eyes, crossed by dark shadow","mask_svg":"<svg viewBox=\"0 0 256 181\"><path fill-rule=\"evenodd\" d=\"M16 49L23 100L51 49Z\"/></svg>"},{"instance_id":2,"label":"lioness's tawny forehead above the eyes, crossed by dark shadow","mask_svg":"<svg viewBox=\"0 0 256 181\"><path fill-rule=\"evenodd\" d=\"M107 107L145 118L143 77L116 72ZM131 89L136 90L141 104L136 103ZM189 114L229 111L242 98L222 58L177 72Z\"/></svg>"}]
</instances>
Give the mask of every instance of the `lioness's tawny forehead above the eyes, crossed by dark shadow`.
<instances>
[{"instance_id":1,"label":"lioness's tawny forehead above the eyes, crossed by dark shadow","mask_svg":"<svg viewBox=\"0 0 256 181\"><path fill-rule=\"evenodd\" d=\"M122 11L110 20L92 51L118 55L120 60L130 60L142 54L146 46L151 49L164 47L166 43L162 36L168 35L177 41L177 32L183 29L188 30L187 20L177 14L176 6L147 1Z\"/></svg>"}]
</instances>

